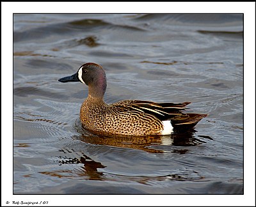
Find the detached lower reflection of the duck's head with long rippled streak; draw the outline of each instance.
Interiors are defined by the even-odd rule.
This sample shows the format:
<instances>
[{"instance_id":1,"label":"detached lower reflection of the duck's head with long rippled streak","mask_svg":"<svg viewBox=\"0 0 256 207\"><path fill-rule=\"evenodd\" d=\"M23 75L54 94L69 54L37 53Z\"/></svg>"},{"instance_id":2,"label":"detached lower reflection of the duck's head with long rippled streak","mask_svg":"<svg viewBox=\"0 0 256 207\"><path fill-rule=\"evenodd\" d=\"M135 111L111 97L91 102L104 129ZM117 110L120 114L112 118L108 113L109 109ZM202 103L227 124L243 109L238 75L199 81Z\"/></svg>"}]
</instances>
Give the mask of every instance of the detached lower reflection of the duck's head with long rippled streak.
<instances>
[{"instance_id":1,"label":"detached lower reflection of the duck's head with long rippled streak","mask_svg":"<svg viewBox=\"0 0 256 207\"><path fill-rule=\"evenodd\" d=\"M65 150L60 150L63 153ZM72 153L71 151L69 151ZM72 170L56 170L56 171L42 171L40 173L47 174L58 178L70 178L70 179L81 179L83 180L108 180L108 181L136 181L144 185L152 185L152 181L205 181L204 176L196 171L181 171L180 174L164 174L160 176L137 176L137 175L124 175L124 174L113 174L108 172L99 172L99 169L107 166L102 165L100 162L95 162L92 158L83 155L79 159L70 157L59 157L58 160L60 165L63 164L83 164L79 168L73 168ZM106 193L104 193L106 194Z\"/></svg>"}]
</instances>

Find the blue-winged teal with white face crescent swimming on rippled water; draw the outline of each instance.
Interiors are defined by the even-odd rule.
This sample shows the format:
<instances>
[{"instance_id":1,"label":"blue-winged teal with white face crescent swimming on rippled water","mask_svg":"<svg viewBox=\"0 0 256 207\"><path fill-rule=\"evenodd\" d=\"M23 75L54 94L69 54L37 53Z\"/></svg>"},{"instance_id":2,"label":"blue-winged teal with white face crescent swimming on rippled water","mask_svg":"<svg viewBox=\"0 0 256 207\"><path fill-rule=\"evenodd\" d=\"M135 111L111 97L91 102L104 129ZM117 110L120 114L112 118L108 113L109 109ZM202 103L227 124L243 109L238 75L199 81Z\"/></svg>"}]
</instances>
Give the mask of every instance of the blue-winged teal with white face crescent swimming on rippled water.
<instances>
[{"instance_id":1,"label":"blue-winged teal with white face crescent swimming on rippled water","mask_svg":"<svg viewBox=\"0 0 256 207\"><path fill-rule=\"evenodd\" d=\"M88 86L88 97L81 105L80 119L86 130L97 135L168 135L176 130L193 128L207 114L184 113L186 105L123 100L114 104L104 102L107 88L102 66L85 63L74 75L60 82L82 82Z\"/></svg>"}]
</instances>

